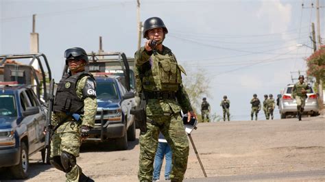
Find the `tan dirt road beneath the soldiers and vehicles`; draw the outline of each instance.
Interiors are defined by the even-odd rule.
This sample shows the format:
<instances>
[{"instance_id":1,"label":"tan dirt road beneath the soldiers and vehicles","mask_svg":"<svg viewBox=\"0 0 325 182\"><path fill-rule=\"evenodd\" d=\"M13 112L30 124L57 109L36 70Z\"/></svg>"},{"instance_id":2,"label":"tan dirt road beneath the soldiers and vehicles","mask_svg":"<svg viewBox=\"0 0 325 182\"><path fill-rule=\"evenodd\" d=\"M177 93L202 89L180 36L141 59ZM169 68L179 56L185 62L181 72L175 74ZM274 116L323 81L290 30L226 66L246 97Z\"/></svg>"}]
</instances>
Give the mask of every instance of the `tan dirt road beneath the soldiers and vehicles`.
<instances>
[{"instance_id":1,"label":"tan dirt road beneath the soldiers and vehicles","mask_svg":"<svg viewBox=\"0 0 325 182\"><path fill-rule=\"evenodd\" d=\"M197 128L192 138L208 177L287 179L281 174L289 174L294 180L325 180L325 118L212 122L200 123ZM77 158L84 173L95 181L137 181L138 162L139 140L130 142L128 151L87 144ZM65 179L63 172L41 164L40 155L32 156L29 170L27 181ZM185 177L189 181L204 177L192 146Z\"/></svg>"}]
</instances>

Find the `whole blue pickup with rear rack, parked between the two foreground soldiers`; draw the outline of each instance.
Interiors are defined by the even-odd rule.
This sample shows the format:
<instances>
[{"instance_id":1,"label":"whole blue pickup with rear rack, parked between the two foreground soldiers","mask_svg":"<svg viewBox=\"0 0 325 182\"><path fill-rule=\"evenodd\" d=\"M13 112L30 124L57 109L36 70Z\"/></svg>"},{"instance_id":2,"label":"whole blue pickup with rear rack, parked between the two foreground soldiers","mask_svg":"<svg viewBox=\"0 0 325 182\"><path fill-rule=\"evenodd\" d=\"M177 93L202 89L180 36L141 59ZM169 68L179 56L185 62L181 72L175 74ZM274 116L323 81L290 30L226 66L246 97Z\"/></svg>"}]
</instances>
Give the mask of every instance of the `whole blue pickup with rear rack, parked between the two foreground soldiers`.
<instances>
[{"instance_id":1,"label":"whole blue pickup with rear rack, parked between the two foreground soldiers","mask_svg":"<svg viewBox=\"0 0 325 182\"><path fill-rule=\"evenodd\" d=\"M128 141L136 140L134 116L134 75L121 52L90 53L88 70L97 82L97 115L95 128L86 140L115 140L117 149L128 149Z\"/></svg>"}]
</instances>

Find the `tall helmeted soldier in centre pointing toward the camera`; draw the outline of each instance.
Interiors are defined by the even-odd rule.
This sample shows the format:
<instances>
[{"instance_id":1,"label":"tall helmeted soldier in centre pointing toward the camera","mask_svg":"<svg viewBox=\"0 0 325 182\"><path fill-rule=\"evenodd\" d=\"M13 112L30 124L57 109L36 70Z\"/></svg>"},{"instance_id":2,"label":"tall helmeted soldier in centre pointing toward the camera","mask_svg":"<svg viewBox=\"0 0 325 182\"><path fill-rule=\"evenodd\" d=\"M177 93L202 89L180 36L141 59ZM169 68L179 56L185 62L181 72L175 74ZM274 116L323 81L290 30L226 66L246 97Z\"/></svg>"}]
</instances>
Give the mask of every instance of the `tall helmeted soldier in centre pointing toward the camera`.
<instances>
[{"instance_id":1,"label":"tall helmeted soldier in centre pointing toward the camera","mask_svg":"<svg viewBox=\"0 0 325 182\"><path fill-rule=\"evenodd\" d=\"M171 181L182 181L187 168L189 141L180 110L196 116L182 85L181 73L185 74L185 70L178 64L171 49L163 45L167 33L160 18L148 18L143 24L143 37L147 38L147 42L134 56L136 90L143 92L147 99L147 132L141 133L139 138L139 181L152 181L159 131L173 153Z\"/></svg>"}]
</instances>

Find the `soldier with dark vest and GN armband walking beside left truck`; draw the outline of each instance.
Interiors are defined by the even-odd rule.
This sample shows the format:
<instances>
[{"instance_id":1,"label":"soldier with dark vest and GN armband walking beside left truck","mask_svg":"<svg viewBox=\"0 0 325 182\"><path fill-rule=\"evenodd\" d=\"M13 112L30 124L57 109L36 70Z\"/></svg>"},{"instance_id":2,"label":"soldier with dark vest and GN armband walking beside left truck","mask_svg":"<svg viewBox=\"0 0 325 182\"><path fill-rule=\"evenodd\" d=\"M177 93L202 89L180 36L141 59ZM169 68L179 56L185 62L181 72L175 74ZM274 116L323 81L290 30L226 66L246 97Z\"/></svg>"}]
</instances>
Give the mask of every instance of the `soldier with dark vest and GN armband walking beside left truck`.
<instances>
[{"instance_id":1,"label":"soldier with dark vest and GN armband walking beside left truck","mask_svg":"<svg viewBox=\"0 0 325 182\"><path fill-rule=\"evenodd\" d=\"M86 51L80 47L64 53L69 73L64 74L53 103L52 123L57 129L51 141L52 166L66 173L67 181L93 181L76 164L82 140L95 125L97 112L96 83L84 72L88 64Z\"/></svg>"}]
</instances>

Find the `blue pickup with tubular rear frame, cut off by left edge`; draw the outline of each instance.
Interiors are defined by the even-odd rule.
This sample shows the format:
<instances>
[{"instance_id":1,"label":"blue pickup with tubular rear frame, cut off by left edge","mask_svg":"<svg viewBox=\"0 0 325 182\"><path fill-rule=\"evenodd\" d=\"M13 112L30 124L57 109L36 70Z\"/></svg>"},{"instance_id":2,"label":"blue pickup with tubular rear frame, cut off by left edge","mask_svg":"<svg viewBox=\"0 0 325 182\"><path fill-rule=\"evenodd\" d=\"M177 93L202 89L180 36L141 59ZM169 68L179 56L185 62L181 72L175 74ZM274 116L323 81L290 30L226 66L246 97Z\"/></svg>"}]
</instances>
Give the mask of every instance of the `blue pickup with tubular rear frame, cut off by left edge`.
<instances>
[{"instance_id":1,"label":"blue pickup with tubular rear frame, cut off by left edge","mask_svg":"<svg viewBox=\"0 0 325 182\"><path fill-rule=\"evenodd\" d=\"M45 160L46 110L41 101L47 100L45 80L51 79L51 70L47 64L44 73L40 57L47 64L43 54L0 55L0 168L10 168L16 179L27 178L30 155L40 151ZM7 59L27 59L30 64ZM41 70L30 66L34 60Z\"/></svg>"}]
</instances>

